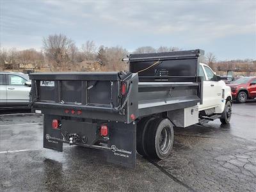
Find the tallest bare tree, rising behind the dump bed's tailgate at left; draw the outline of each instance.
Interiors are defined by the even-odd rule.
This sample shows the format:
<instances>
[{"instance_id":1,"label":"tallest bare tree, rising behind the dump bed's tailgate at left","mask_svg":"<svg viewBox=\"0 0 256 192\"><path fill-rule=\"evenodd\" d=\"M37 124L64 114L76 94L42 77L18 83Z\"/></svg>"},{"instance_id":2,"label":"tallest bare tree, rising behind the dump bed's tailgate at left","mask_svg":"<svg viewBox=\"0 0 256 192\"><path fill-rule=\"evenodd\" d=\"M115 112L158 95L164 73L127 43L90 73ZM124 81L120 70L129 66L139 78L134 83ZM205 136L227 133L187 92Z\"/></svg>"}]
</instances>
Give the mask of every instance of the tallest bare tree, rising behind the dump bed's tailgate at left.
<instances>
[{"instance_id":1,"label":"tallest bare tree, rising behind the dump bed's tailgate at left","mask_svg":"<svg viewBox=\"0 0 256 192\"><path fill-rule=\"evenodd\" d=\"M67 63L70 61L70 52L74 53L75 46L70 38L62 34L43 38L45 56L55 67L67 67Z\"/></svg>"}]
</instances>

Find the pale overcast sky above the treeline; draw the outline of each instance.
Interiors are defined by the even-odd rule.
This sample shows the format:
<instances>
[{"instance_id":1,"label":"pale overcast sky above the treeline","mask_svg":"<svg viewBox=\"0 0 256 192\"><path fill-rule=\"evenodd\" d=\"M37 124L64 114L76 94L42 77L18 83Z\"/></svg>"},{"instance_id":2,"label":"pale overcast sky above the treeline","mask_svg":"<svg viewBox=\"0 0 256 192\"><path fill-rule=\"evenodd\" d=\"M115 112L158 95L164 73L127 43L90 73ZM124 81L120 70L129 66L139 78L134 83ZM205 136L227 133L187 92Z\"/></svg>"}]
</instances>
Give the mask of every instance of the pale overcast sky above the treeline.
<instances>
[{"instance_id":1,"label":"pale overcast sky above the treeline","mask_svg":"<svg viewBox=\"0 0 256 192\"><path fill-rule=\"evenodd\" d=\"M218 60L256 58L256 1L3 1L1 47L42 47L63 33L81 46L204 49Z\"/></svg>"}]
</instances>

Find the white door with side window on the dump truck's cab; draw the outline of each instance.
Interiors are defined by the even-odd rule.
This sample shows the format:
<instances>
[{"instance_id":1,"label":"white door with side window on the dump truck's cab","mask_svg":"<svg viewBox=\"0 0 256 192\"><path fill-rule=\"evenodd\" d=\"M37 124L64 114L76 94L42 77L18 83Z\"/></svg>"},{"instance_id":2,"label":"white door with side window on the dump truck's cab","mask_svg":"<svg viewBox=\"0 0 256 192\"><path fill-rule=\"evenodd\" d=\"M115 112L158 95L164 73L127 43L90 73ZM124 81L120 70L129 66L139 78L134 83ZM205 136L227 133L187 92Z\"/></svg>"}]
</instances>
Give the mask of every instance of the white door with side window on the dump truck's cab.
<instances>
[{"instance_id":1,"label":"white door with side window on the dump truck's cab","mask_svg":"<svg viewBox=\"0 0 256 192\"><path fill-rule=\"evenodd\" d=\"M211 68L204 65L206 80L204 81L203 104L204 108L215 108L221 104L221 84L216 81ZM204 102L205 101L205 102Z\"/></svg>"}]
</instances>

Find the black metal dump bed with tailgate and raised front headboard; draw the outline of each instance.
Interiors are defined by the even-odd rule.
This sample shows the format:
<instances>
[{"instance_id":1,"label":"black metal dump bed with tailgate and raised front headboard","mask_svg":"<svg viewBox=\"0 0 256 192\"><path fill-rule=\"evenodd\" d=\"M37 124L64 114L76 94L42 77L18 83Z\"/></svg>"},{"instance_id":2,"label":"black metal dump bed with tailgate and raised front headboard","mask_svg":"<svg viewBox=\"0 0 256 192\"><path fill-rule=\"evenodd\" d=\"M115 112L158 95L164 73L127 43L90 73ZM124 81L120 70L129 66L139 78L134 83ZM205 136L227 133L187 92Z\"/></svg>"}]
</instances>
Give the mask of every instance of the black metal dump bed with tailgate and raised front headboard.
<instances>
[{"instance_id":1,"label":"black metal dump bed with tailgate and raised front headboard","mask_svg":"<svg viewBox=\"0 0 256 192\"><path fill-rule=\"evenodd\" d=\"M202 102L198 77L202 54L201 50L131 54L127 73L33 73L31 106L52 115L127 123L196 106Z\"/></svg>"}]
</instances>

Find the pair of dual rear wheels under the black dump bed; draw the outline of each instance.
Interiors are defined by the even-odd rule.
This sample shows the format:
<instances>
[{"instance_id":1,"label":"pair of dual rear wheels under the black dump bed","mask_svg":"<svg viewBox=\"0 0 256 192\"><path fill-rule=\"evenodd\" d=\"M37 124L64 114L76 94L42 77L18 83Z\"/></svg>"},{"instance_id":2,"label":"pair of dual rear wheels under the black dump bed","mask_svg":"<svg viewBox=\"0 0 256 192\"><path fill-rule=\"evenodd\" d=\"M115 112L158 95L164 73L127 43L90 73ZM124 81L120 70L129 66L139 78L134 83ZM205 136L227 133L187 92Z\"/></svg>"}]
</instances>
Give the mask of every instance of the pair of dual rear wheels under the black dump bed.
<instances>
[{"instance_id":1,"label":"pair of dual rear wheels under the black dump bed","mask_svg":"<svg viewBox=\"0 0 256 192\"><path fill-rule=\"evenodd\" d=\"M145 117L137 125L137 152L152 159L165 159L173 146L173 125L168 118Z\"/></svg>"}]
</instances>

